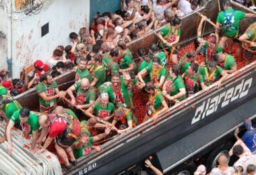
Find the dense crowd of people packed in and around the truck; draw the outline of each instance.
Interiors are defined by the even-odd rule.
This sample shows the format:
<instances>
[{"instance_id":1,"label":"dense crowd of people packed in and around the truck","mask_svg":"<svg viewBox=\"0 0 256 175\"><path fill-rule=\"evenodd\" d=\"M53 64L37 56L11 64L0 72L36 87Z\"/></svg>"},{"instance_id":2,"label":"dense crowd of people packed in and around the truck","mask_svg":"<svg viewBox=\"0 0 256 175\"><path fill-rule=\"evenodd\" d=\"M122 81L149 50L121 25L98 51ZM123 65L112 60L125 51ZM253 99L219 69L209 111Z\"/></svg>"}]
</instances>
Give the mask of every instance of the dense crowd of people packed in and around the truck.
<instances>
[{"instance_id":1,"label":"dense crowd of people packed in and around the truck","mask_svg":"<svg viewBox=\"0 0 256 175\"><path fill-rule=\"evenodd\" d=\"M238 30L240 20L256 15L234 10L230 1L224 1L224 11L218 14L216 24L211 23L216 32L203 36L203 25L209 19L201 15L196 49L179 58L179 41L186 32L181 30L180 17L205 3L204 0L122 0L121 10L96 13L91 30L81 28L78 34L71 32L67 46L57 46L46 63L36 60L32 67L24 67L20 79L5 79L8 71L1 71L0 115L8 122L0 143L7 141L7 151L11 153L11 129L20 128L32 134L30 151L42 145L38 149L42 153L53 142L63 160L62 168L69 170L78 157L91 149L100 151L99 143L139 124L133 104L134 88L148 94L143 118L146 121L157 120L168 107L200 90L206 92L213 83L220 87L227 75L237 70L236 58L241 57L242 48L254 57L256 23L241 36ZM156 33L158 43L148 50L138 48L139 63L135 64L134 53L127 44L161 26L164 28ZM232 44L236 44L236 57L229 48ZM197 61L197 55L204 60ZM54 78L67 71L75 71L75 83L60 91ZM40 114L9 98L34 87L39 96ZM241 139L238 141L238 145L244 145ZM233 153L243 157L245 147L239 150L241 154L234 147ZM226 169L225 160L219 157L220 167L211 174L234 171ZM248 168L255 167L243 166L244 172Z\"/></svg>"}]
</instances>

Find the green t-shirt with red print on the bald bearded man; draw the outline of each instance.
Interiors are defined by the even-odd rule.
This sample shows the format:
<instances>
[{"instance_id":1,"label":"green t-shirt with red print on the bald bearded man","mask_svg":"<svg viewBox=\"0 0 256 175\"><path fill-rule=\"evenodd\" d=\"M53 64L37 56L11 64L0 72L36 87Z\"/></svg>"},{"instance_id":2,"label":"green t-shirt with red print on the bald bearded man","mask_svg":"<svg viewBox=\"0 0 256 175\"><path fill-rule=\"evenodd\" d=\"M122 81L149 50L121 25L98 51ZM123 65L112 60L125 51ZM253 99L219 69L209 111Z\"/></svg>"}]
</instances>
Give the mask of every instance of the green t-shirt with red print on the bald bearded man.
<instances>
[{"instance_id":1,"label":"green t-shirt with red print on the bald bearded man","mask_svg":"<svg viewBox=\"0 0 256 175\"><path fill-rule=\"evenodd\" d=\"M87 92L84 92L84 90L81 90L81 81L74 84L75 92L76 92L76 102L77 104L89 104L91 101L96 100L96 93L93 89L88 90Z\"/></svg>"}]
</instances>

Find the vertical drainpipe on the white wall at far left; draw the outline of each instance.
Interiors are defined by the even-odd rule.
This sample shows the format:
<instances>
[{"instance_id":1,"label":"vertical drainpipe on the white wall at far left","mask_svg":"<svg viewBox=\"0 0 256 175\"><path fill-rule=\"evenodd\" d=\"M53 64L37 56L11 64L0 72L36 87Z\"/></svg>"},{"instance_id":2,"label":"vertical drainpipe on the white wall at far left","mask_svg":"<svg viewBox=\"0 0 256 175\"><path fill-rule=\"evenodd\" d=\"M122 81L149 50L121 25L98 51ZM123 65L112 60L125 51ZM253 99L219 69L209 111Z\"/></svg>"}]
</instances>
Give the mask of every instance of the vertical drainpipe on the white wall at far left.
<instances>
[{"instance_id":1,"label":"vertical drainpipe on the white wall at far left","mask_svg":"<svg viewBox=\"0 0 256 175\"><path fill-rule=\"evenodd\" d=\"M13 1L11 0L11 6L10 8L13 8ZM12 10L11 10L12 11ZM8 34L7 34L7 66L9 70L9 77L12 77L12 55L13 55L13 14L11 13L11 16L8 20Z\"/></svg>"}]
</instances>

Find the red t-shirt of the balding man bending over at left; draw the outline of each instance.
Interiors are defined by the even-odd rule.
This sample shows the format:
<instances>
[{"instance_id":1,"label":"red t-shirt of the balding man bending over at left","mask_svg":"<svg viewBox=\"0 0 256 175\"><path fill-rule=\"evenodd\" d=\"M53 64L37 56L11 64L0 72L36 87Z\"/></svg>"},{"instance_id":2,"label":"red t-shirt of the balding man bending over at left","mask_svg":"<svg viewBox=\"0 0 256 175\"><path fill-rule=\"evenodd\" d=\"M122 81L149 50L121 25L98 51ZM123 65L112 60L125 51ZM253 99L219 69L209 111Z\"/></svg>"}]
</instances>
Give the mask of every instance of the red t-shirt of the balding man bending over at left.
<instances>
[{"instance_id":1,"label":"red t-shirt of the balding man bending over at left","mask_svg":"<svg viewBox=\"0 0 256 175\"><path fill-rule=\"evenodd\" d=\"M79 120L77 119L74 119L74 120L75 121L72 129L72 133L78 136L80 133ZM64 118L56 117L51 124L50 130L49 130L49 137L54 138L54 137L57 137L58 135L63 134L63 132L66 129L66 126L67 126L67 122L65 121Z\"/></svg>"}]
</instances>

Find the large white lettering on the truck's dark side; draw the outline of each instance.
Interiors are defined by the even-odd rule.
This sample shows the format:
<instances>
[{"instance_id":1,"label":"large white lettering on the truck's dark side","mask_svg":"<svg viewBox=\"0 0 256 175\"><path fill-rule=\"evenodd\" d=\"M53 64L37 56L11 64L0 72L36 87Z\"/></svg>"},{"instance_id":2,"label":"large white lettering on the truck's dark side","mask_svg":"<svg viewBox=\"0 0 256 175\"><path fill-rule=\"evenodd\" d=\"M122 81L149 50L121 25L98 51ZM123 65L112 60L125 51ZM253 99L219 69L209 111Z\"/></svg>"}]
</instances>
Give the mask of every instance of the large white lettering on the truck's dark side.
<instances>
[{"instance_id":1,"label":"large white lettering on the truck's dark side","mask_svg":"<svg viewBox=\"0 0 256 175\"><path fill-rule=\"evenodd\" d=\"M230 102L234 102L234 100L246 96L249 89L251 88L252 82L253 78L247 79L246 81L243 79L240 84L236 85L236 87L232 87L222 92L221 94L218 94L218 96L204 100L203 104L201 104L201 106L197 107L195 110L195 116L191 121L191 125L205 118L205 116L209 116L210 114L216 112L219 106L223 108L224 106L228 106ZM224 101L220 105L220 102L223 100L223 98Z\"/></svg>"}]
</instances>

